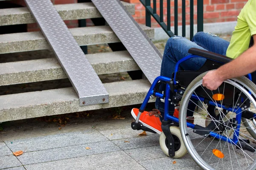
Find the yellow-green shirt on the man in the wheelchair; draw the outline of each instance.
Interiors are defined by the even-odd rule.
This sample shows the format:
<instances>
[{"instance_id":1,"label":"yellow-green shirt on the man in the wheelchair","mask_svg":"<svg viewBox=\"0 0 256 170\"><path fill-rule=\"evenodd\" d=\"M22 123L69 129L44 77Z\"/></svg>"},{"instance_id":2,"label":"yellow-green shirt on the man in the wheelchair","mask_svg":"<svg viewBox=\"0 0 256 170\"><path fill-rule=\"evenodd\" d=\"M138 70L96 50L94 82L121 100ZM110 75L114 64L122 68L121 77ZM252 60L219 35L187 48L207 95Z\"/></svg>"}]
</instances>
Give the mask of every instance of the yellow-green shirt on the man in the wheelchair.
<instances>
[{"instance_id":1,"label":"yellow-green shirt on the man in the wheelchair","mask_svg":"<svg viewBox=\"0 0 256 170\"><path fill-rule=\"evenodd\" d=\"M227 57L231 58L236 58L246 51L250 37L256 34L256 0L248 0L237 18L226 53Z\"/></svg>"}]
</instances>

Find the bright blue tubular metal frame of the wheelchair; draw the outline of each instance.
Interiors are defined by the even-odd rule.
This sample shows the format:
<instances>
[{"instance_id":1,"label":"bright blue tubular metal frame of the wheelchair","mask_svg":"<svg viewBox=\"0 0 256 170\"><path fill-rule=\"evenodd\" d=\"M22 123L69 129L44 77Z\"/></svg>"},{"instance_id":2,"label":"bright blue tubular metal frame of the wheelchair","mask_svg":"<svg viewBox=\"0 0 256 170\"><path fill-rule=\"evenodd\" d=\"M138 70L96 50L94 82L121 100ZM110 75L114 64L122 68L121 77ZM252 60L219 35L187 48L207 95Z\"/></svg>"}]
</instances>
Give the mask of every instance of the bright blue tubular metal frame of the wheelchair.
<instances>
[{"instance_id":1,"label":"bright blue tubular metal frame of the wheelchair","mask_svg":"<svg viewBox=\"0 0 256 170\"><path fill-rule=\"evenodd\" d=\"M180 63L188 60L188 59L191 59L191 58L195 58L195 57L199 57L199 58L205 58L205 57L201 57L201 56L198 56L198 55L194 55L194 54L191 54L189 56L186 56L184 57L183 59L180 59L177 64L175 65L175 74L174 74L174 85L177 85L177 81L176 81L176 73L178 72L178 69L179 69L179 65ZM248 79L252 80L252 77L251 77L251 74L248 74L247 75ZM161 99L164 98L164 95L165 95L165 100L164 100L164 121L168 121L168 120L171 120L171 121L174 121L174 122L177 122L179 123L179 119L176 118L175 116L172 116L172 115L169 115L168 111L169 111L169 97L170 97L170 85L168 83L166 83L166 91L165 91L165 94L161 94L161 93L158 93L158 92L155 92L154 93L154 88L155 86L157 85L157 83L159 81L164 81L164 82L170 82L172 81L171 78L168 78L168 77L163 77L163 76L159 76L157 77L153 84L151 85L149 91L148 91L148 94L146 95L141 107L140 107L140 110L144 111L145 110L145 107L151 97L152 94L154 94L154 96L157 96L157 97L160 97ZM178 92L177 89L174 90L175 92ZM192 98L194 99L198 99L201 100L201 102L204 102L204 97L200 97L200 96L196 96L195 94L192 94ZM209 101L209 104L210 105L215 105L216 106L216 103L212 102L212 101ZM218 133L215 133L215 132L210 132L209 135L212 136L212 137L215 137L217 139L221 139L223 141L227 141L229 142L230 144L237 144L239 142L239 130L240 130L240 124L241 124L241 117L242 115L239 114L242 112L241 108L237 108L237 109L233 109L233 108L226 108L225 106L221 105L221 104L218 104L217 103L217 106L220 107L220 108L223 108L227 111L231 111L231 112L235 112L236 113L236 121L237 121L237 126L236 126L236 129L235 129L235 135L233 135L233 139L229 139L225 136L222 136L222 135L219 135ZM138 116L139 117L139 116ZM254 113L254 117L256 117L256 113ZM137 121L137 120L136 120ZM187 127L190 127L192 129L195 128L195 125L192 124L192 123L189 123L189 122L186 122L186 125Z\"/></svg>"}]
</instances>

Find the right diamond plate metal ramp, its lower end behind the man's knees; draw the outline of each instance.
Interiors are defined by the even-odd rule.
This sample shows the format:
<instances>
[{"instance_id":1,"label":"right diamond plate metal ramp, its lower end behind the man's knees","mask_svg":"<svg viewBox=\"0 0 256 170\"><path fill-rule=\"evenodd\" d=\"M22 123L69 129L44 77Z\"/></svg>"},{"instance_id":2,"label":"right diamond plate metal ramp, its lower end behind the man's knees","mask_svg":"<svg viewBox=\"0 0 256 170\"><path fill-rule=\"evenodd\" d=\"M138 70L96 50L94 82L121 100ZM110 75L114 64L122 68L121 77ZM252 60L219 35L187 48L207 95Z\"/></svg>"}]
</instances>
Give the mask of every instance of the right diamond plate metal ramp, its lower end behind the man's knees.
<instances>
[{"instance_id":1,"label":"right diamond plate metal ramp, its lower end behind the man's knees","mask_svg":"<svg viewBox=\"0 0 256 170\"><path fill-rule=\"evenodd\" d=\"M126 11L120 0L92 0L92 2L152 83L157 76L160 76L162 62L160 52Z\"/></svg>"}]
</instances>

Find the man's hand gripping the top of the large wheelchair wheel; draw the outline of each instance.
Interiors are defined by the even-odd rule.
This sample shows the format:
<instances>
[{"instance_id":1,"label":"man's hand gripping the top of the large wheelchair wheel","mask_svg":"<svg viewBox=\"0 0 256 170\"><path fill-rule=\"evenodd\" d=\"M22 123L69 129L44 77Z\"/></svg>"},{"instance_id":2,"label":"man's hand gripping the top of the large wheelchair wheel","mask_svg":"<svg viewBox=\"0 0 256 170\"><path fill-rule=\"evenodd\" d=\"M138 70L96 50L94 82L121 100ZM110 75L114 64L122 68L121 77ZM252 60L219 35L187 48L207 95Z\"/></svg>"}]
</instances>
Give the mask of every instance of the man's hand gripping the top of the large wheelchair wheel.
<instances>
[{"instance_id":1,"label":"man's hand gripping the top of the large wheelchair wheel","mask_svg":"<svg viewBox=\"0 0 256 170\"><path fill-rule=\"evenodd\" d=\"M209 71L203 77L203 86L208 88L209 90L216 90L221 84L223 80L220 79L220 76L217 74L217 71Z\"/></svg>"}]
</instances>

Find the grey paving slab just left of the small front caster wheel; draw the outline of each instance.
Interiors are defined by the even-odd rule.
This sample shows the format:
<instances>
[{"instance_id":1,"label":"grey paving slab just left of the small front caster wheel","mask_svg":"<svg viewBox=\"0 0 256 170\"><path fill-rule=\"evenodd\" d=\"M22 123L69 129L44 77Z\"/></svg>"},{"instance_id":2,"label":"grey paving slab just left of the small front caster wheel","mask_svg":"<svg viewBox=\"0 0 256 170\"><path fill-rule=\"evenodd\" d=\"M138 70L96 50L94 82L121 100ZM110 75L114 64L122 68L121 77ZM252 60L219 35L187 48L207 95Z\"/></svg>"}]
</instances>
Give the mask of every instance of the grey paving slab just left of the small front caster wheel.
<instances>
[{"instance_id":1,"label":"grey paving slab just left of the small front caster wheel","mask_svg":"<svg viewBox=\"0 0 256 170\"><path fill-rule=\"evenodd\" d=\"M128 142L125 142L125 141L128 141ZM122 150L155 146L155 145L159 145L159 135L154 134L154 135L148 135L148 136L139 136L136 138L113 140L112 142L114 142Z\"/></svg>"}]
</instances>

